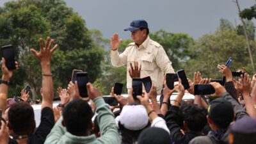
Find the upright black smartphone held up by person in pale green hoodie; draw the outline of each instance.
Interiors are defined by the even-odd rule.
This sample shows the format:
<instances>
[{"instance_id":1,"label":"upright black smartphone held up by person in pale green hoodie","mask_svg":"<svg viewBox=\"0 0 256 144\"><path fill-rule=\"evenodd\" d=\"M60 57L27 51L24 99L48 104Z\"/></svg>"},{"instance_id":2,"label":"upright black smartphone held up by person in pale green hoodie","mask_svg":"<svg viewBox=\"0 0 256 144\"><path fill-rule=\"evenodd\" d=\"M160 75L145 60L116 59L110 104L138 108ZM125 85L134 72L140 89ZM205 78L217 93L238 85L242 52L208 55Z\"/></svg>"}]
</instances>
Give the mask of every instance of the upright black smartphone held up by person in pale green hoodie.
<instances>
[{"instance_id":1,"label":"upright black smartphone held up by person in pale green hoodie","mask_svg":"<svg viewBox=\"0 0 256 144\"><path fill-rule=\"evenodd\" d=\"M86 84L88 83L88 74L87 72L77 72L76 73L77 86L79 94L81 97L88 97Z\"/></svg>"}]
</instances>

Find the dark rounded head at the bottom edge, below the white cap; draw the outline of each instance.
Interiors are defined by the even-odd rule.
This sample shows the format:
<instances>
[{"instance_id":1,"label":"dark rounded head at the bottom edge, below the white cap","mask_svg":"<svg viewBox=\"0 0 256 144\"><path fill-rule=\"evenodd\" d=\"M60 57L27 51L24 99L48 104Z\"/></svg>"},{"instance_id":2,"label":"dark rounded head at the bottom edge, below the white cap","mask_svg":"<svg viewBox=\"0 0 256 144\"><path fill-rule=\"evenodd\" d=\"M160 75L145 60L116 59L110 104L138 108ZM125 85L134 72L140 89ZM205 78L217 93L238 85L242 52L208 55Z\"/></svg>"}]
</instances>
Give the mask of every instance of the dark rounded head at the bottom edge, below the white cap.
<instances>
[{"instance_id":1,"label":"dark rounded head at the bottom edge, below the white cap","mask_svg":"<svg viewBox=\"0 0 256 144\"><path fill-rule=\"evenodd\" d=\"M170 144L171 142L170 134L159 127L148 127L144 129L138 138L138 144Z\"/></svg>"}]
</instances>

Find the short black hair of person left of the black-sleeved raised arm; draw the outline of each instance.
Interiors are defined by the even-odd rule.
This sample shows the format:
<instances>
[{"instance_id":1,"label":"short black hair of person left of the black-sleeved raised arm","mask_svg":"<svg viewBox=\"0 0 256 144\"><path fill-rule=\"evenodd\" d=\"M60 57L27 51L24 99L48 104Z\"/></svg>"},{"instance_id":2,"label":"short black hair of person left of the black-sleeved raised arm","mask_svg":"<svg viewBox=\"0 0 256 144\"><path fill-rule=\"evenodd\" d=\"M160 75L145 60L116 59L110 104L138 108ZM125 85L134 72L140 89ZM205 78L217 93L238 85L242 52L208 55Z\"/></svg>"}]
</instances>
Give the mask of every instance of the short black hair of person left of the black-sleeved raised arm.
<instances>
[{"instance_id":1,"label":"short black hair of person left of the black-sleeved raised arm","mask_svg":"<svg viewBox=\"0 0 256 144\"><path fill-rule=\"evenodd\" d=\"M35 122L34 110L28 102L17 102L9 109L8 119L15 134L28 134Z\"/></svg>"}]
</instances>

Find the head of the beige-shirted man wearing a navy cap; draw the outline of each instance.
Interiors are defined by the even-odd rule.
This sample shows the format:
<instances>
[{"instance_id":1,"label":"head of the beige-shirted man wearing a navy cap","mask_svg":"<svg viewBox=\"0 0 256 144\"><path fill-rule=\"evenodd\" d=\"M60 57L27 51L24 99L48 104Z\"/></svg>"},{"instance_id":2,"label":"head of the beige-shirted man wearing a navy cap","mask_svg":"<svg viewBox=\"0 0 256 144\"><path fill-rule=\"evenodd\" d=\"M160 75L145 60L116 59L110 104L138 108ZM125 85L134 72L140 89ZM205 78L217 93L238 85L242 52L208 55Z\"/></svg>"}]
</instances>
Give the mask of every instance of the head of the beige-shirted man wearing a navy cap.
<instances>
[{"instance_id":1,"label":"head of the beige-shirted man wearing a navy cap","mask_svg":"<svg viewBox=\"0 0 256 144\"><path fill-rule=\"evenodd\" d=\"M131 31L131 38L135 44L141 45L148 36L149 29L146 20L132 20L130 27L124 29Z\"/></svg>"}]
</instances>

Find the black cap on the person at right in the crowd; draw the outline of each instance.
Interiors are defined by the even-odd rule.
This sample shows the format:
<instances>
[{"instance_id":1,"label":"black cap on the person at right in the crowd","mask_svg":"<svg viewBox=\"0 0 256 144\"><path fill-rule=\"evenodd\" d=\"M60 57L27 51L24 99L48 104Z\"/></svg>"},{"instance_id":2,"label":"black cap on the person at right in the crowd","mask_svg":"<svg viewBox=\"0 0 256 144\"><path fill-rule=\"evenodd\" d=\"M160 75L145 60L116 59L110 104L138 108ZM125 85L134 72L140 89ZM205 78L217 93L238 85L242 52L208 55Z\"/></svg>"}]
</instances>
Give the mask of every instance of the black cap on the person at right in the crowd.
<instances>
[{"instance_id":1,"label":"black cap on the person at right in the crowd","mask_svg":"<svg viewBox=\"0 0 256 144\"><path fill-rule=\"evenodd\" d=\"M230 123L234 117L234 109L230 102L220 97L211 101L208 107L208 115L216 124L223 121Z\"/></svg>"}]
</instances>

